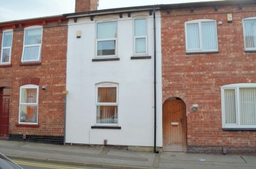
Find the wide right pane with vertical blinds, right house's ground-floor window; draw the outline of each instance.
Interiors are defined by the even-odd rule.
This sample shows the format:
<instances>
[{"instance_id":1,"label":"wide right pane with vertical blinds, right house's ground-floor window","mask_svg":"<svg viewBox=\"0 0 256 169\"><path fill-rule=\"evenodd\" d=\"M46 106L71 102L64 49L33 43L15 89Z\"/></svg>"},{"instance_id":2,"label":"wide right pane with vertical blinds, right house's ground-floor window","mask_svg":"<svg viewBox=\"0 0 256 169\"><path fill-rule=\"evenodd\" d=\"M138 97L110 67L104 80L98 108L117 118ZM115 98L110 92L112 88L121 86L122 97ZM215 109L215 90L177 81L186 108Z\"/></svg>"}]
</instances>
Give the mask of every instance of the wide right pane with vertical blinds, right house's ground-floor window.
<instances>
[{"instance_id":1,"label":"wide right pane with vertical blinds, right house's ground-floor window","mask_svg":"<svg viewBox=\"0 0 256 169\"><path fill-rule=\"evenodd\" d=\"M256 125L256 88L240 88L240 119L242 125Z\"/></svg>"}]
</instances>

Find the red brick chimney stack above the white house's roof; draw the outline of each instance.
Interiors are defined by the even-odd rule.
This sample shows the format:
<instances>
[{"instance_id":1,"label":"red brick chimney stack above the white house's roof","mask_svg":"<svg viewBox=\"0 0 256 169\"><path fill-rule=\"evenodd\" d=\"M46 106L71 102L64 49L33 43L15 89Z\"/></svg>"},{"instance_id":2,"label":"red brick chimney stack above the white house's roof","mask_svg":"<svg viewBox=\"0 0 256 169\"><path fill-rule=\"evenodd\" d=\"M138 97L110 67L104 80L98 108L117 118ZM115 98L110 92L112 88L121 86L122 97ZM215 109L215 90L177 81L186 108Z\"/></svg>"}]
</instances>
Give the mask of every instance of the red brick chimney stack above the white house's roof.
<instances>
[{"instance_id":1,"label":"red brick chimney stack above the white house's roof","mask_svg":"<svg viewBox=\"0 0 256 169\"><path fill-rule=\"evenodd\" d=\"M75 0L75 13L97 10L98 0Z\"/></svg>"}]
</instances>

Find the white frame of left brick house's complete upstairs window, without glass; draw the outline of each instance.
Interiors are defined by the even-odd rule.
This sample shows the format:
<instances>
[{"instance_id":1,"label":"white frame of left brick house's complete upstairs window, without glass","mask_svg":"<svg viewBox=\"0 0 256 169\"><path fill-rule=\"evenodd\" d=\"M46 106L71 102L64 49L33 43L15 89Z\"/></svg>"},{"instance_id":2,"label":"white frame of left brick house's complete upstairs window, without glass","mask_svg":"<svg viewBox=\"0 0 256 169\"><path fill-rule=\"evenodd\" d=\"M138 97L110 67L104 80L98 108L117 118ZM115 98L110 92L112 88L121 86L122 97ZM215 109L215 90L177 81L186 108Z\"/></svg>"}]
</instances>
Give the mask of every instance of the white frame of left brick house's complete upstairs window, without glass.
<instances>
[{"instance_id":1,"label":"white frame of left brick house's complete upstairs window, without glass","mask_svg":"<svg viewBox=\"0 0 256 169\"><path fill-rule=\"evenodd\" d=\"M39 29L41 28L41 43L40 44L32 44L32 45L25 45L26 42L26 31L30 31L30 30L34 30L34 29ZM40 62L41 61L41 47L42 47L42 43L43 43L43 26L30 26L28 28L24 29L24 36L23 36L23 50L22 50L22 57L21 57L21 62ZM23 60L24 58L24 53L25 53L25 48L29 48L29 47L35 47L38 46L39 47L39 52L38 52L38 56L37 59L35 60Z\"/></svg>"}]
</instances>

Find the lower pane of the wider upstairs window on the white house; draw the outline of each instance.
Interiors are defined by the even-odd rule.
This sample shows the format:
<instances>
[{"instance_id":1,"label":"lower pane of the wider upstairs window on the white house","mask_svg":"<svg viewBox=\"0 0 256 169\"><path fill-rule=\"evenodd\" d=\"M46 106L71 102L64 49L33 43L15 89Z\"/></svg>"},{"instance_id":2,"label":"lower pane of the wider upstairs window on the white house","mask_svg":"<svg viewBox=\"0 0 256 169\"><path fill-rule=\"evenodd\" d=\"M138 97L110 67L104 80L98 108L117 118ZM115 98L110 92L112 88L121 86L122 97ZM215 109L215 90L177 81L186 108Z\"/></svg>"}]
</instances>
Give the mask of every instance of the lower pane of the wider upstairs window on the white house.
<instances>
[{"instance_id":1,"label":"lower pane of the wider upstairs window on the white house","mask_svg":"<svg viewBox=\"0 0 256 169\"><path fill-rule=\"evenodd\" d=\"M99 41L97 55L115 55L115 40Z\"/></svg>"}]
</instances>

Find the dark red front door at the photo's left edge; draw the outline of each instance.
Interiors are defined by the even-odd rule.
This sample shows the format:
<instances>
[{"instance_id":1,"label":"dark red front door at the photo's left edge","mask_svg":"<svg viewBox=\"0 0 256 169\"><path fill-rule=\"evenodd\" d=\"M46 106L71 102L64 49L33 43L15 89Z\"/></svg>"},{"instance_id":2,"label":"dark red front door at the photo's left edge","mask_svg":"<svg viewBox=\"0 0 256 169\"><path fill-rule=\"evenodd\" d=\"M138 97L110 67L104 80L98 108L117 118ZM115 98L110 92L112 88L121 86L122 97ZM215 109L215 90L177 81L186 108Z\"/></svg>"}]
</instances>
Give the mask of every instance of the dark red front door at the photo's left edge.
<instances>
[{"instance_id":1,"label":"dark red front door at the photo's left edge","mask_svg":"<svg viewBox=\"0 0 256 169\"><path fill-rule=\"evenodd\" d=\"M9 104L11 89L0 88L0 137L9 137Z\"/></svg>"}]
</instances>

